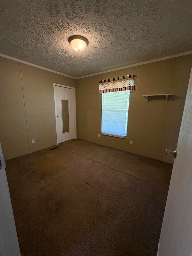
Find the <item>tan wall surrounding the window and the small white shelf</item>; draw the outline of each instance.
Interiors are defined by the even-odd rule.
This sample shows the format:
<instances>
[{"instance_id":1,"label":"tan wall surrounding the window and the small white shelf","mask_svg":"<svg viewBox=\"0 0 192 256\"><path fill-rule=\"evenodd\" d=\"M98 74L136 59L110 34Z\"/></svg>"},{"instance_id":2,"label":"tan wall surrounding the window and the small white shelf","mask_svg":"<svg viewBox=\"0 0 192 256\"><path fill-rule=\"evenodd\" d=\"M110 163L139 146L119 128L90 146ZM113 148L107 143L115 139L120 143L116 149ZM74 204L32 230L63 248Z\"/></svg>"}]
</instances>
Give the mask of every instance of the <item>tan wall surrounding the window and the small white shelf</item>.
<instances>
[{"instance_id":1,"label":"tan wall surrounding the window and the small white shelf","mask_svg":"<svg viewBox=\"0 0 192 256\"><path fill-rule=\"evenodd\" d=\"M78 138L173 163L165 150L177 145L191 65L190 54L78 79ZM128 74L136 75L136 90L130 95L128 134L125 139L102 135L98 81ZM165 96L150 98L149 102L142 97L164 93L174 95L169 101Z\"/></svg>"}]
</instances>

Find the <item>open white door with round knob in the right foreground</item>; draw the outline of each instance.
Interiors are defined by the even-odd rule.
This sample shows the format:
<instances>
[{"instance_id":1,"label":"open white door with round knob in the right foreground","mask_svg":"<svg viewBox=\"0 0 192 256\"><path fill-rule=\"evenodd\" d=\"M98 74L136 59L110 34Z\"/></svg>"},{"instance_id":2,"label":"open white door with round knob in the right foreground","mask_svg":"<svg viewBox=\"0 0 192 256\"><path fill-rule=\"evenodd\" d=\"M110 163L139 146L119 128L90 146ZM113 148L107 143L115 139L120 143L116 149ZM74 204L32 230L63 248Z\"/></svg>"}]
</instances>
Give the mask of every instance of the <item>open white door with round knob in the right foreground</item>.
<instances>
[{"instance_id":1,"label":"open white door with round knob in the right foreground","mask_svg":"<svg viewBox=\"0 0 192 256\"><path fill-rule=\"evenodd\" d=\"M161 228L158 256L192 255L192 71L177 149Z\"/></svg>"}]
</instances>

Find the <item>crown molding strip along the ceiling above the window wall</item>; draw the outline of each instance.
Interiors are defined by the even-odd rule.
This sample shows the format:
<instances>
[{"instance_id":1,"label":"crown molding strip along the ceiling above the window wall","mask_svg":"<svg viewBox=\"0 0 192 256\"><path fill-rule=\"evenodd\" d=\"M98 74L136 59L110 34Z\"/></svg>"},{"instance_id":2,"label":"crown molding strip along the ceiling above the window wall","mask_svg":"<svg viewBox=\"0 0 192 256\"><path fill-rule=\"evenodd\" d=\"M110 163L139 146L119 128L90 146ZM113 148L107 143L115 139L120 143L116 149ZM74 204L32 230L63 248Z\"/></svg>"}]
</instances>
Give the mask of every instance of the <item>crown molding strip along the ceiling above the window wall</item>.
<instances>
[{"instance_id":1,"label":"crown molding strip along the ceiling above the window wall","mask_svg":"<svg viewBox=\"0 0 192 256\"><path fill-rule=\"evenodd\" d=\"M187 54L191 54L191 53L192 53L192 51L188 51L188 52L184 52L184 53L178 53L178 54L175 54L175 55L166 56L166 57L162 57L162 58L159 58L159 59L148 60L148 61L145 61L145 62L135 63L135 64L131 64L131 65L128 65L128 66L121 67L121 68L113 68L113 69L102 71L102 72L99 72L99 73L94 73L94 74L83 76L83 77L77 77L76 79L80 79L80 78L84 78L84 77L91 77L91 76L95 76L95 75L99 75L99 74L108 73L108 72L111 72L111 71L116 71L116 70L120 70L120 69L124 69L124 68L131 68L131 67L135 67L135 66L139 66L139 65L143 65L143 64L148 64L148 63L152 63L152 62L156 62L156 61L161 61L161 60L165 60L165 59L171 59L171 58L175 58L175 57L179 57L179 56L183 56L183 55L187 55Z\"/></svg>"}]
</instances>

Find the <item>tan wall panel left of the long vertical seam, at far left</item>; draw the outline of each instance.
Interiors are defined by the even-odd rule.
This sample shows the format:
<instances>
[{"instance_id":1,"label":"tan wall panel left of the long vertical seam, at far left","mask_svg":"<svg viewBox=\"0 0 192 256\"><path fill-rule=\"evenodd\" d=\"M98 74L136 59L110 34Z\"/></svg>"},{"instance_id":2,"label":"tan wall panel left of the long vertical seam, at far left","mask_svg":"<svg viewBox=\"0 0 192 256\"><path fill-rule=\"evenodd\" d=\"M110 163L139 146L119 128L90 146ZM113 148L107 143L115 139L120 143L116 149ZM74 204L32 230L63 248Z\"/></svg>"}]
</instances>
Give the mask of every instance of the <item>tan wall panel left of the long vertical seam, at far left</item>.
<instances>
[{"instance_id":1,"label":"tan wall panel left of the long vertical seam, at far left","mask_svg":"<svg viewBox=\"0 0 192 256\"><path fill-rule=\"evenodd\" d=\"M19 62L0 57L0 140L6 159L29 153Z\"/></svg>"}]
</instances>

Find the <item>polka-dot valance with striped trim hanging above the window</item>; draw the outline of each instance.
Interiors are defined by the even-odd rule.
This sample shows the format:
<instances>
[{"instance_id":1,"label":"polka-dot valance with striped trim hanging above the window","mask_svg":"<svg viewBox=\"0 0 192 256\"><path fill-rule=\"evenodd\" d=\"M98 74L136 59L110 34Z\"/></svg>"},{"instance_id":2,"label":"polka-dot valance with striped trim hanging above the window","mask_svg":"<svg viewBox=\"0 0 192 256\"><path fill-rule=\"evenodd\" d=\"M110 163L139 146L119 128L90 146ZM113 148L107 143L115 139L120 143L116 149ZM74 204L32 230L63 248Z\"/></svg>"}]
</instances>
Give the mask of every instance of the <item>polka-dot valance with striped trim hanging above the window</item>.
<instances>
[{"instance_id":1,"label":"polka-dot valance with striped trim hanging above the window","mask_svg":"<svg viewBox=\"0 0 192 256\"><path fill-rule=\"evenodd\" d=\"M119 92L135 89L135 75L99 81L99 92Z\"/></svg>"}]
</instances>

